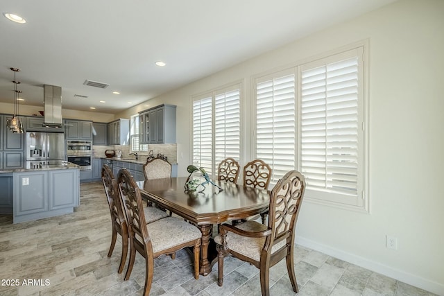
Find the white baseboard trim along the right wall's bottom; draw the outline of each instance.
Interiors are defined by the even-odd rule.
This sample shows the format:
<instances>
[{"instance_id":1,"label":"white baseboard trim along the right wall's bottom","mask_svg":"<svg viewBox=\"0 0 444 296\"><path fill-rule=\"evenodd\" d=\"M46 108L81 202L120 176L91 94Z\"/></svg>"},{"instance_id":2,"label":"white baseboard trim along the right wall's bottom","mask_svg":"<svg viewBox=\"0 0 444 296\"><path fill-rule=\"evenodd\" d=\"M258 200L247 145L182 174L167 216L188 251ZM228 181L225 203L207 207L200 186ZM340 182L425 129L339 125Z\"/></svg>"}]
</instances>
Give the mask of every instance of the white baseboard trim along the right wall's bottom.
<instances>
[{"instance_id":1,"label":"white baseboard trim along the right wall's bottom","mask_svg":"<svg viewBox=\"0 0 444 296\"><path fill-rule=\"evenodd\" d=\"M424 279L422 277L418 277L417 275L412 275L409 272L404 272L396 268L391 268L390 266L384 265L382 263L372 261L364 257L357 256L355 254L350 254L348 252L343 252L342 250L335 249L328 245L316 243L316 241L311 241L300 236L296 237L296 243L304 247L309 247L312 250L316 250L318 252L333 256L337 259L341 259L343 261L361 266L362 268L378 272L381 275L397 279L398 281L402 281L411 286L427 290L437 295L444 295L444 284L439 284L435 281L430 281L429 279Z\"/></svg>"}]
</instances>

